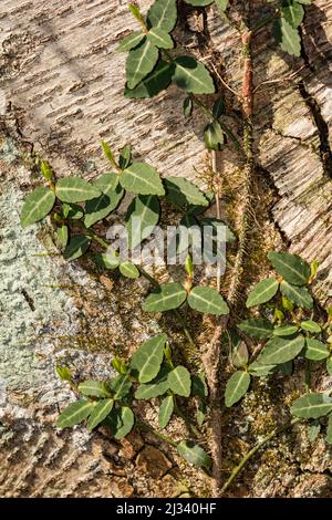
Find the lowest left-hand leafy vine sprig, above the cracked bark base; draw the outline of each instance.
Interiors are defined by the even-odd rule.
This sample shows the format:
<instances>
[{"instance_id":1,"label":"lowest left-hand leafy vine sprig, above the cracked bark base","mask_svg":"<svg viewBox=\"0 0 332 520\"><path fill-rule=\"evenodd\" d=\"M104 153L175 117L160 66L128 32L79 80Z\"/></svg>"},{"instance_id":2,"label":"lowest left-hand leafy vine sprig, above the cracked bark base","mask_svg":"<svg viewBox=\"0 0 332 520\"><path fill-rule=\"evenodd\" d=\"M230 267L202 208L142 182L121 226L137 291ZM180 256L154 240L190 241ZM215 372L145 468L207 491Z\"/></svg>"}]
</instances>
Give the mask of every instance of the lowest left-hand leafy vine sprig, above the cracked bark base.
<instances>
[{"instance_id":1,"label":"lowest left-hand leafy vine sprig, above the cracked bark base","mask_svg":"<svg viewBox=\"0 0 332 520\"><path fill-rule=\"evenodd\" d=\"M166 428L174 414L186 418L181 412L179 399L184 402L190 397L198 401L204 407L207 397L207 387L204 376L191 376L185 366L175 366L172 361L172 351L167 336L160 334L144 342L135 352L129 363L114 357L113 367L118 375L108 381L83 381L79 385L73 383L68 367L58 366L60 377L68 381L73 391L82 398L65 408L58 419L58 427L65 428L86 423L87 428L107 426L115 439L126 437L133 427L148 430L177 448L181 457L196 466L209 469L210 457L193 440L175 443L169 437L155 431L145 424L139 414L135 415L135 403L139 401L158 398L158 426ZM189 422L194 435L196 428Z\"/></svg>"}]
</instances>

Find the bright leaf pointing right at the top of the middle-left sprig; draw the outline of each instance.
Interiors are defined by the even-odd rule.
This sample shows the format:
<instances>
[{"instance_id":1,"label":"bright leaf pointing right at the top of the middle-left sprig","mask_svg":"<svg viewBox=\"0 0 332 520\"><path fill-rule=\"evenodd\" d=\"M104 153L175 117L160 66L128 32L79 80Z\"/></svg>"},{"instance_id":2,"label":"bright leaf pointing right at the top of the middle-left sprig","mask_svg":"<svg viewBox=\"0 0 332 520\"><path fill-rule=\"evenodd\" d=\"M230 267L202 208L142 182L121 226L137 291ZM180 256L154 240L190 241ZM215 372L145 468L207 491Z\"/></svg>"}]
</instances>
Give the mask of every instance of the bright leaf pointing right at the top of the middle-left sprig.
<instances>
[{"instance_id":1,"label":"bright leaf pointing right at the top of the middle-left sprig","mask_svg":"<svg viewBox=\"0 0 332 520\"><path fill-rule=\"evenodd\" d=\"M146 163L131 164L120 176L123 188L139 195L165 195L158 171Z\"/></svg>"}]
</instances>

